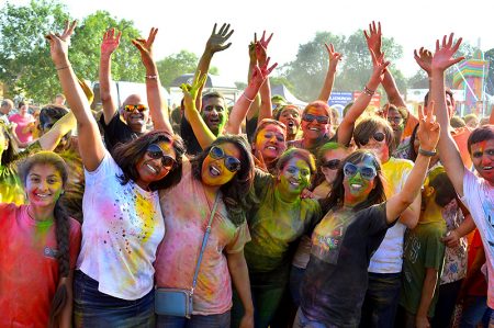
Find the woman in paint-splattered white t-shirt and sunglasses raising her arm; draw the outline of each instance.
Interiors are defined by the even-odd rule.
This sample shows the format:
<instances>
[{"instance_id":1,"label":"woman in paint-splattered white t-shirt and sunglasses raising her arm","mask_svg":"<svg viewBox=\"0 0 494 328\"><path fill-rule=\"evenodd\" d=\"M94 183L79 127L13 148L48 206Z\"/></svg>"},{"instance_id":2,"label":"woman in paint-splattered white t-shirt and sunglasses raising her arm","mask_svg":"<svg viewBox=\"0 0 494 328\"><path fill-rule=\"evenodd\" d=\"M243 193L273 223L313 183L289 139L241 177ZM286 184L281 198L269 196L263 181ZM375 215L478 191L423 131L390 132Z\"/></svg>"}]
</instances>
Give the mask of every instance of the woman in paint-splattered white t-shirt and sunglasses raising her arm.
<instances>
[{"instance_id":1,"label":"woman in paint-splattered white t-shirt and sunglasses raising her arm","mask_svg":"<svg viewBox=\"0 0 494 328\"><path fill-rule=\"evenodd\" d=\"M121 144L110 155L68 60L67 39L75 25L67 24L61 36L47 36L64 94L78 122L86 174L75 324L154 327L153 262L165 234L157 189L180 181L184 148L170 133L155 131ZM146 41L138 42L146 46Z\"/></svg>"}]
</instances>

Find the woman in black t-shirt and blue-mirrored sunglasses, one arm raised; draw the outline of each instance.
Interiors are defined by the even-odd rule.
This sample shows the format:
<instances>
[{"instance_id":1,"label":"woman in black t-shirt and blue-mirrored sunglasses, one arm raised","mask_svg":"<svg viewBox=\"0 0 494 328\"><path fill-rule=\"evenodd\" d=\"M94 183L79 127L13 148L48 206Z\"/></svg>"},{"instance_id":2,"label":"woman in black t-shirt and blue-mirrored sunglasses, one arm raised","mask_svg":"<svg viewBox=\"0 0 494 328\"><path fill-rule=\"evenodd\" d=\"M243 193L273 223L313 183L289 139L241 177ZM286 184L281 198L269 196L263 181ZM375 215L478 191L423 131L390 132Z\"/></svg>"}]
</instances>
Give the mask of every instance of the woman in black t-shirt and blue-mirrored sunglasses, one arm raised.
<instances>
[{"instance_id":1,"label":"woman in black t-shirt and blue-mirrored sunglasses, one arm raised","mask_svg":"<svg viewBox=\"0 0 494 328\"><path fill-rule=\"evenodd\" d=\"M388 201L379 159L372 152L357 150L341 162L324 204L329 212L312 235L294 327L358 327L370 257L420 192L435 151L440 128L433 112L426 118L420 115L422 151L402 191Z\"/></svg>"}]
</instances>

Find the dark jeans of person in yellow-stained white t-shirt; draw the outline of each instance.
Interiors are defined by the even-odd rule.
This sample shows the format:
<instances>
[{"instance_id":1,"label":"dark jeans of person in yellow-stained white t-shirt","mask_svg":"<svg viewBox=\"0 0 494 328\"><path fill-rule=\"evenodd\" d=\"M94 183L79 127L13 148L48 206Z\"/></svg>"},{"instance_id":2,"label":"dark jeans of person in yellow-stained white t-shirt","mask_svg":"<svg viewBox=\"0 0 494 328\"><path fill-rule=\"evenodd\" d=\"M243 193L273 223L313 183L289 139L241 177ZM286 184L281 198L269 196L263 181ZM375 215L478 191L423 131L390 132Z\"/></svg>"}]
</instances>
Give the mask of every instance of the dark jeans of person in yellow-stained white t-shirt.
<instances>
[{"instance_id":1,"label":"dark jeans of person in yellow-stained white t-shirt","mask_svg":"<svg viewBox=\"0 0 494 328\"><path fill-rule=\"evenodd\" d=\"M402 289L402 273L369 272L360 327L392 328Z\"/></svg>"}]
</instances>

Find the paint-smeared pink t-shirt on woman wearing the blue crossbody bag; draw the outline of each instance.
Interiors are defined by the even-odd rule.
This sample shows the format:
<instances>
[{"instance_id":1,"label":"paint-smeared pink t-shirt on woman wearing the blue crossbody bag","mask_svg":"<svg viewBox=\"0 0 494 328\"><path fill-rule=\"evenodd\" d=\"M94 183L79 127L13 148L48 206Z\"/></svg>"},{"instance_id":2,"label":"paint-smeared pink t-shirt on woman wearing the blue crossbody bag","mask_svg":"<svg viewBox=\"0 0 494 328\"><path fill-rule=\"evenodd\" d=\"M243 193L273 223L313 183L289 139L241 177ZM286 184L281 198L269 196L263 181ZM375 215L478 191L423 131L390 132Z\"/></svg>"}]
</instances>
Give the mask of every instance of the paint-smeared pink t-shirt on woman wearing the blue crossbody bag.
<instances>
[{"instance_id":1,"label":"paint-smeared pink t-shirt on woman wearing the blue crossbody bag","mask_svg":"<svg viewBox=\"0 0 494 328\"><path fill-rule=\"evenodd\" d=\"M155 280L158 287L191 289L205 227L213 202L206 200L201 181L193 178L191 165L175 188L160 191L167 231L158 248ZM224 252L243 251L250 240L247 224L236 227L220 196L212 229L199 270L193 295L193 314L223 314L232 307L232 281Z\"/></svg>"}]
</instances>

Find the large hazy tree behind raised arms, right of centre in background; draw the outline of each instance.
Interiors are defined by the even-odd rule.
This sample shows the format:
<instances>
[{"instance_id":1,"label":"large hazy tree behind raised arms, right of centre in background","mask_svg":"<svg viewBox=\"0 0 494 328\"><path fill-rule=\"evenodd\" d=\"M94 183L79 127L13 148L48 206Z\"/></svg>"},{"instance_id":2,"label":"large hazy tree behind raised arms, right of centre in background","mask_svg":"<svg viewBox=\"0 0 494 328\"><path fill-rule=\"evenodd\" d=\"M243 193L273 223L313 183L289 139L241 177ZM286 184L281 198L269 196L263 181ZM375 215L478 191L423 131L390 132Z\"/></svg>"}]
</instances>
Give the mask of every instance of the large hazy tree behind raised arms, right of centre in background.
<instances>
[{"instance_id":1,"label":"large hazy tree behind raised arms, right of centre in background","mask_svg":"<svg viewBox=\"0 0 494 328\"><path fill-rule=\"evenodd\" d=\"M338 75L334 90L360 90L368 81L372 63L361 30L350 36L335 35L330 32L317 32L314 39L299 46L295 60L283 65L281 77L292 84L292 91L299 99L313 101L321 91L328 67L328 55L324 43L333 43L335 50L344 58L338 65ZM393 38L383 37L382 48L388 60L402 57L403 48ZM398 88L405 88L406 81L400 70L391 68Z\"/></svg>"}]
</instances>

